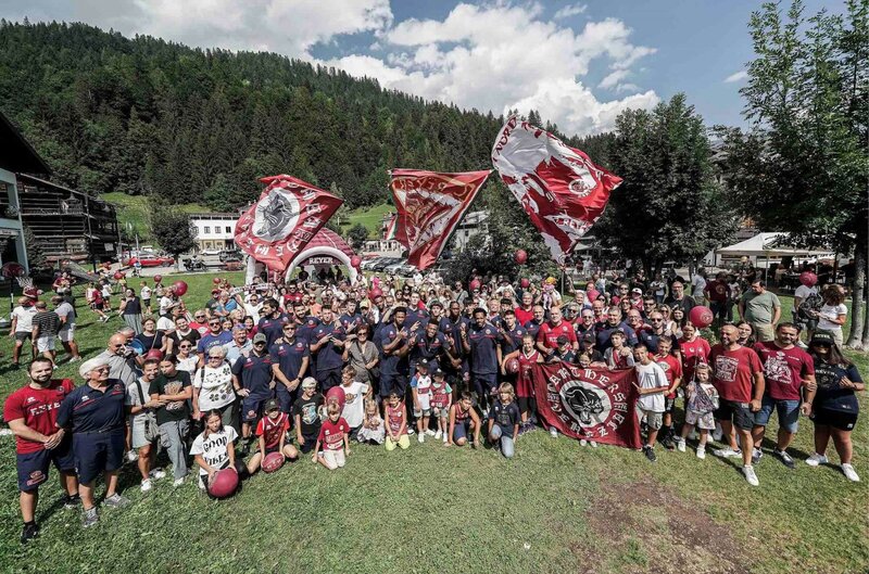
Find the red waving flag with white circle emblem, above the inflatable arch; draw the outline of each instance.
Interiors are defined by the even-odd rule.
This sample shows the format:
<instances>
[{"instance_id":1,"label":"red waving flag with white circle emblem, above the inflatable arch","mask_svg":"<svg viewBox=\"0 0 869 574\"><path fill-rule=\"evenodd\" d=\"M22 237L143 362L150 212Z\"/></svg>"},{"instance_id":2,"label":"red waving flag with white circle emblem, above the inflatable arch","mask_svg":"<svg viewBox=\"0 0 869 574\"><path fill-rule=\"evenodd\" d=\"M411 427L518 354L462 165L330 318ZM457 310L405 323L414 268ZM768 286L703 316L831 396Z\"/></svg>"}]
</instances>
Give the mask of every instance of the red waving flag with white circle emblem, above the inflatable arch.
<instances>
[{"instance_id":1,"label":"red waving flag with white circle emblem, above the inflatable arch","mask_svg":"<svg viewBox=\"0 0 869 574\"><path fill-rule=\"evenodd\" d=\"M284 272L343 202L292 176L260 181L268 187L236 224L236 244L269 269Z\"/></svg>"}]
</instances>

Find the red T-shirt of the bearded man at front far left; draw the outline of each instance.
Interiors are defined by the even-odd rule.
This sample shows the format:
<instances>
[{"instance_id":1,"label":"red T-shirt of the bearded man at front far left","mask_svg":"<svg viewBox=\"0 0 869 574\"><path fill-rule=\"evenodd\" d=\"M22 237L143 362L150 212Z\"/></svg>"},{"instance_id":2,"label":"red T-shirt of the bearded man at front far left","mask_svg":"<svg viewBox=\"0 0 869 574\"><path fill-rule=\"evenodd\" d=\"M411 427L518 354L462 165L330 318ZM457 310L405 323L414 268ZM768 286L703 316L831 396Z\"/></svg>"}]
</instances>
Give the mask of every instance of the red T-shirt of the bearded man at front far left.
<instances>
[{"instance_id":1,"label":"red T-shirt of the bearded man at front far left","mask_svg":"<svg viewBox=\"0 0 869 574\"><path fill-rule=\"evenodd\" d=\"M52 435L58 432L54 422L63 398L75 388L72 379L53 379L46 388L32 388L29 384L18 388L3 405L3 420L24 419L24 424L34 431ZM15 449L20 455L29 455L45 449L42 443L15 437Z\"/></svg>"}]
</instances>

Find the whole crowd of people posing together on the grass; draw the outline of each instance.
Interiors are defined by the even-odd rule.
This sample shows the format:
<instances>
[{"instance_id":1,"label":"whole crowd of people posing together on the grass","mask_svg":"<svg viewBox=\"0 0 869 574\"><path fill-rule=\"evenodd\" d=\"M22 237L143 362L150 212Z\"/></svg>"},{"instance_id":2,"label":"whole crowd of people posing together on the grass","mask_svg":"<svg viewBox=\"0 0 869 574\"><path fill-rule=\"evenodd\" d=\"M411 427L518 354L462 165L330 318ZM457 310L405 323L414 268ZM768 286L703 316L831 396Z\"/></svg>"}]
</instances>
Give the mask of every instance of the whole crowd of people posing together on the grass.
<instances>
[{"instance_id":1,"label":"whole crowd of people posing together on the grass","mask_svg":"<svg viewBox=\"0 0 869 574\"><path fill-rule=\"evenodd\" d=\"M194 309L155 279L138 293L109 280L87 286L98 320L123 321L105 350L80 363L78 385L53 377L55 339L68 360L81 358L70 282L55 282L53 310L30 293L13 312L13 361L28 340L35 356L3 411L17 443L22 541L38 534L38 490L51 464L65 505L80 505L91 526L96 480L105 481L103 506L124 507L125 460L148 492L166 476L160 450L175 486L192 469L206 492L218 471L253 474L270 452L330 471L347 464L353 445L487 445L512 458L525 433L543 426L558 436L538 414L531 374L534 363L554 361L635 370L642 451L652 462L658 444L684 452L694 443L702 459L713 439L722 445L713 454L740 458L757 486L754 467L776 412L771 455L781 463L796 467L789 447L801 416L809 417L815 452L805 463L828 463L832 438L842 472L859 480L851 434L865 384L842 353L847 309L836 284L804 285L789 321L763 280L734 286L702 270L690 281L591 273L564 295L554 278L351 282L320 273L319 282L240 288L215 279L212 298ZM690 320L706 304L711 331Z\"/></svg>"}]
</instances>

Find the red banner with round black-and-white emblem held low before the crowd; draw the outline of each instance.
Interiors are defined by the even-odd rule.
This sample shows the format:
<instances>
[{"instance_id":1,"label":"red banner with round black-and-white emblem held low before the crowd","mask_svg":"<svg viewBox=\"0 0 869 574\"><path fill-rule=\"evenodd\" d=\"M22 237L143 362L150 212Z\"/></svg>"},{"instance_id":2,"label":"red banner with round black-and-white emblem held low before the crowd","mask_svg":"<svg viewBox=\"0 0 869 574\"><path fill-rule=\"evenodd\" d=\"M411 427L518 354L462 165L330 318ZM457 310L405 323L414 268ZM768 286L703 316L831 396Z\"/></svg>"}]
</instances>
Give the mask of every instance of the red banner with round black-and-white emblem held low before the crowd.
<instances>
[{"instance_id":1,"label":"red banner with round black-and-white emblem held low before the crowd","mask_svg":"<svg viewBox=\"0 0 869 574\"><path fill-rule=\"evenodd\" d=\"M640 448L639 393L633 369L583 369L567 362L533 366L537 411L546 426L574 438Z\"/></svg>"}]
</instances>

